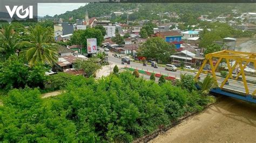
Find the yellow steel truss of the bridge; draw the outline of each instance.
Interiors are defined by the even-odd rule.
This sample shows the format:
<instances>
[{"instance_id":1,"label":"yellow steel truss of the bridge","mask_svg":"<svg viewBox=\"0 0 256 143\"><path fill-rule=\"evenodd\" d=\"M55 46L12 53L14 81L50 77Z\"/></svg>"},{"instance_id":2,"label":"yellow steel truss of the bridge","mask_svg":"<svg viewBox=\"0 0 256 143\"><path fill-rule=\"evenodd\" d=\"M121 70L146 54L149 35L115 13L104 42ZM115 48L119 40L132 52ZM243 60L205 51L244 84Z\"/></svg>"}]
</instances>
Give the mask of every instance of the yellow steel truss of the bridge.
<instances>
[{"instance_id":1,"label":"yellow steel truss of the bridge","mask_svg":"<svg viewBox=\"0 0 256 143\"><path fill-rule=\"evenodd\" d=\"M215 66L213 65L213 60L217 60ZM235 61L234 65L230 65L230 61ZM256 89L252 93L248 90L248 85L246 81L245 71L244 69L249 63L253 63L254 69L256 69L256 53L247 53L247 52L237 52L237 51L220 51L215 53L210 53L205 56L205 60L203 62L203 65L198 71L198 74L196 75L196 79L198 79L199 75L202 73L203 68L205 67L206 63L209 63L211 66L212 76L217 81L215 70L218 68L219 64L221 62L226 62L228 67L228 74L225 78L225 80L221 83L220 89L223 89L225 83L228 81L229 78L233 78L232 73L233 70L238 67L240 69L237 77L235 77L235 80L238 80L238 78L242 77L242 82L244 83L244 88L246 95L255 95Z\"/></svg>"}]
</instances>

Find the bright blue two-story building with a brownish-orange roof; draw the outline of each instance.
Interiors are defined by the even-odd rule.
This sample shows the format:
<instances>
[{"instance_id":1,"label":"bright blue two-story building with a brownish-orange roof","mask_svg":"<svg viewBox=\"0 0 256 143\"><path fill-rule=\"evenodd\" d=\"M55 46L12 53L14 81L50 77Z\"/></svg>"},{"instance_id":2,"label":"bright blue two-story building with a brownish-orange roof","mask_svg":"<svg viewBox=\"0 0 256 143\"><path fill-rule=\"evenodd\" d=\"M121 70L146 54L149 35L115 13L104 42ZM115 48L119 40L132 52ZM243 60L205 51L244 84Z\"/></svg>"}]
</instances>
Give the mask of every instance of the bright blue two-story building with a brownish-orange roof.
<instances>
[{"instance_id":1,"label":"bright blue two-story building with a brownish-orange roof","mask_svg":"<svg viewBox=\"0 0 256 143\"><path fill-rule=\"evenodd\" d=\"M164 38L166 42L174 44L177 49L180 48L180 44L183 44L182 35L177 31L157 32L154 36Z\"/></svg>"}]
</instances>

